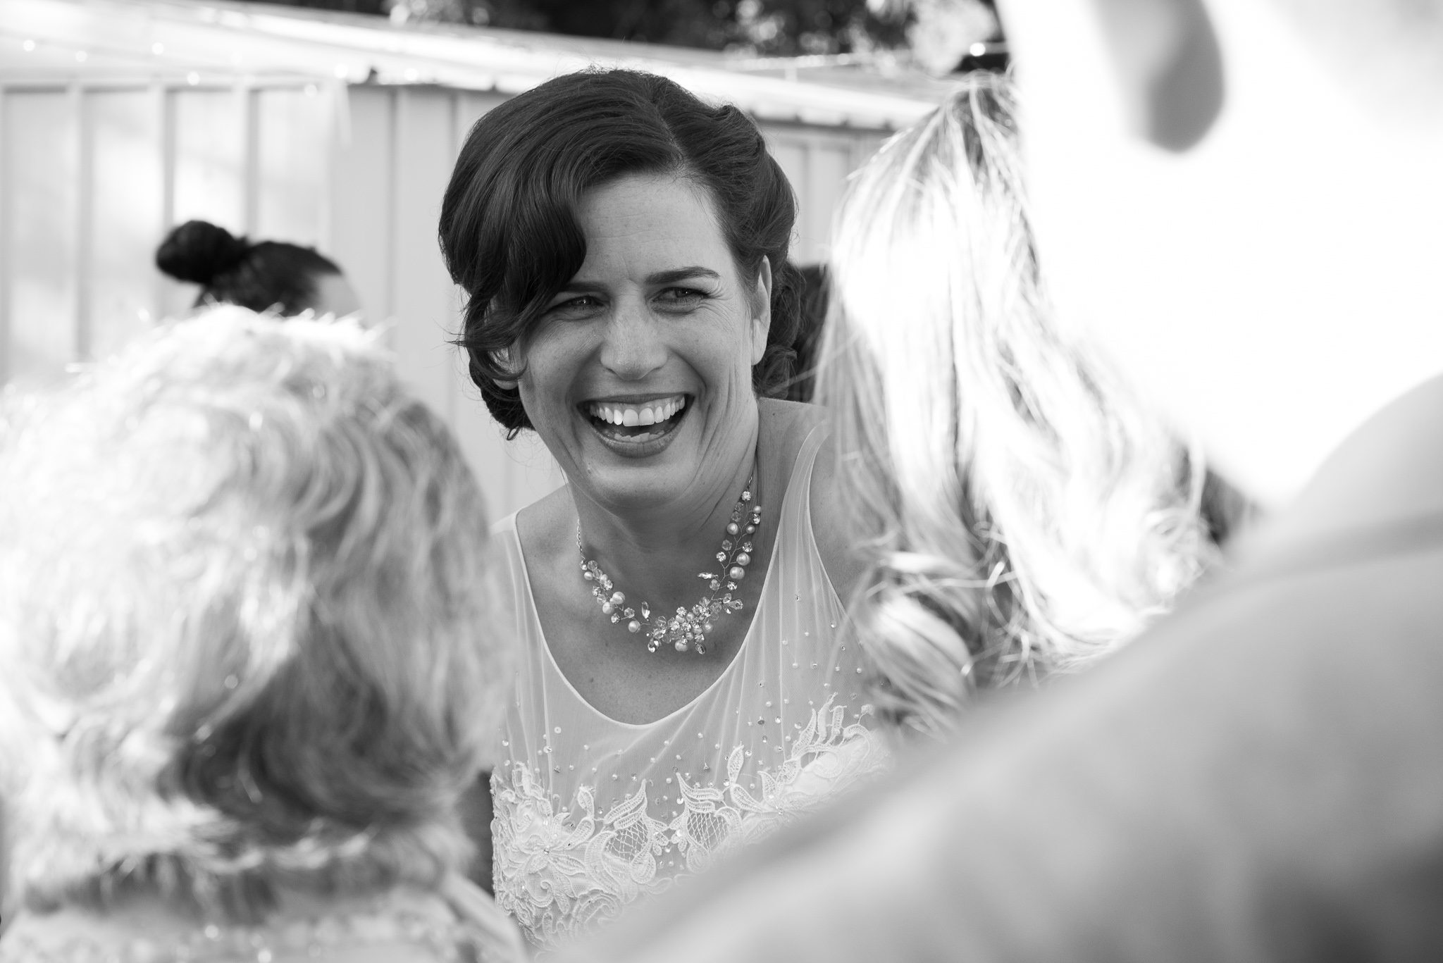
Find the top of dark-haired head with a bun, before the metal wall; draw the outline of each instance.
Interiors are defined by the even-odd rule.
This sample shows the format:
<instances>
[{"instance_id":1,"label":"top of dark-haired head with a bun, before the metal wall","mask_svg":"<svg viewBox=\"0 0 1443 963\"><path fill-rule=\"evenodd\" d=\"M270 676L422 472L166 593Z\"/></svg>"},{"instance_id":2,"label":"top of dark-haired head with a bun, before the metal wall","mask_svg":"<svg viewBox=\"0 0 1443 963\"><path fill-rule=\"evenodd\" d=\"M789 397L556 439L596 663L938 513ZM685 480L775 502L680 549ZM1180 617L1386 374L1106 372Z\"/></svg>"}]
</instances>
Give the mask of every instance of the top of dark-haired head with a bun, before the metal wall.
<instances>
[{"instance_id":1,"label":"top of dark-haired head with a bun, before the metal wall","mask_svg":"<svg viewBox=\"0 0 1443 963\"><path fill-rule=\"evenodd\" d=\"M196 308L219 303L280 315L361 310L355 289L335 261L313 247L251 241L208 221L186 221L156 248L156 267L201 286Z\"/></svg>"}]
</instances>

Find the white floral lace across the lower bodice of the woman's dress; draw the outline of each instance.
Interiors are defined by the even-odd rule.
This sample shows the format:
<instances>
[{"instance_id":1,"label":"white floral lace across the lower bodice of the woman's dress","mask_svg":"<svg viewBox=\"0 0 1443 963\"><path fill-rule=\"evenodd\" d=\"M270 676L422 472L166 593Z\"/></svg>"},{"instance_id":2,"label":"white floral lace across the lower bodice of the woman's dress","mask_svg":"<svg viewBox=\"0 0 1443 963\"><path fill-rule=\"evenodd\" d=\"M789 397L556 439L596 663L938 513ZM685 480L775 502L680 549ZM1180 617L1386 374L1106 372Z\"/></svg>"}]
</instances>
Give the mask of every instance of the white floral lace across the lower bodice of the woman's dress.
<instances>
[{"instance_id":1,"label":"white floral lace across the lower bodice of the woman's dress","mask_svg":"<svg viewBox=\"0 0 1443 963\"><path fill-rule=\"evenodd\" d=\"M870 707L863 707L870 715ZM886 749L846 709L828 699L792 741L775 768L758 767L759 794L740 784L746 748L727 755L720 785L688 783L675 774L681 811L670 822L648 811L648 783L596 816L595 788L582 785L569 809L548 796L525 765L498 770L494 781L496 902L537 943L550 946L596 921L615 918L642 892L672 885L658 873L658 858L680 855L685 873L703 872L726 852L760 839L877 771Z\"/></svg>"}]
</instances>

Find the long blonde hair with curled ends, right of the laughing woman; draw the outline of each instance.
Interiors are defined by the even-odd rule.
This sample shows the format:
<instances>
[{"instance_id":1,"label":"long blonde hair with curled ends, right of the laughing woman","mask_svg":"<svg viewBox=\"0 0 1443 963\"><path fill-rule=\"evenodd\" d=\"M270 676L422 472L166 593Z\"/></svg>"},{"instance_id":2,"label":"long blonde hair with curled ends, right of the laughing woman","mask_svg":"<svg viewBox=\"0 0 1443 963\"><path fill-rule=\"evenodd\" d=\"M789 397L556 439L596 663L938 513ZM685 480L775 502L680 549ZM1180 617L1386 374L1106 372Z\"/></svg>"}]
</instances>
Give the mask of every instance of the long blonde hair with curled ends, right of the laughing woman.
<instances>
[{"instance_id":1,"label":"long blonde hair with curled ends, right of the laughing woman","mask_svg":"<svg viewBox=\"0 0 1443 963\"><path fill-rule=\"evenodd\" d=\"M971 75L856 175L831 256L854 631L879 709L931 732L1114 650L1209 552L1196 459L1051 310L1016 140L1009 81Z\"/></svg>"}]
</instances>

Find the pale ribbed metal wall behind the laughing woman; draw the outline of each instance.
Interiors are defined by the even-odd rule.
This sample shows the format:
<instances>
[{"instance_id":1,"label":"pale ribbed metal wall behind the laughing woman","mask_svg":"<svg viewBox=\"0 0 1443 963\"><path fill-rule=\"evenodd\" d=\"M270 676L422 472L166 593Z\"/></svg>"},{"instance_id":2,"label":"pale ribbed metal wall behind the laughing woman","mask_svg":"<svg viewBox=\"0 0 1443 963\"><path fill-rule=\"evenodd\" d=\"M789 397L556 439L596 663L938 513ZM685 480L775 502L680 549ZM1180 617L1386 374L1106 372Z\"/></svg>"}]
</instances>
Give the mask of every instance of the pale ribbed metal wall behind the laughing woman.
<instances>
[{"instance_id":1,"label":"pale ribbed metal wall behind the laughing woman","mask_svg":"<svg viewBox=\"0 0 1443 963\"><path fill-rule=\"evenodd\" d=\"M494 515L561 482L532 437L506 443L449 345L457 295L436 245L470 124L504 100L436 87L134 82L0 87L0 381L42 384L113 351L193 289L156 271L165 232L205 218L313 244L356 286L414 390L456 430ZM797 188L794 257L820 260L876 131L765 123Z\"/></svg>"}]
</instances>

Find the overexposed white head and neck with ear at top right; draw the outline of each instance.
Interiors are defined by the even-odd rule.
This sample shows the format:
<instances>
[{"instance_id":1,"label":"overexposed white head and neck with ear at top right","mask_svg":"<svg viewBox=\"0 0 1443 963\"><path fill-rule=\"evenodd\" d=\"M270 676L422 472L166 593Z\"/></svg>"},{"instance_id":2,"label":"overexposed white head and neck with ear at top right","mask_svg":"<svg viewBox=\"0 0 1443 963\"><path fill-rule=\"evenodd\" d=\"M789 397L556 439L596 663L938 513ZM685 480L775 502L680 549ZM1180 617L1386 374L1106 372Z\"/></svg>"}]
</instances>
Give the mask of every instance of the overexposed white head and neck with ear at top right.
<instances>
[{"instance_id":1,"label":"overexposed white head and neck with ear at top right","mask_svg":"<svg viewBox=\"0 0 1443 963\"><path fill-rule=\"evenodd\" d=\"M1289 497L1443 370L1443 3L1000 4L1059 309Z\"/></svg>"}]
</instances>

